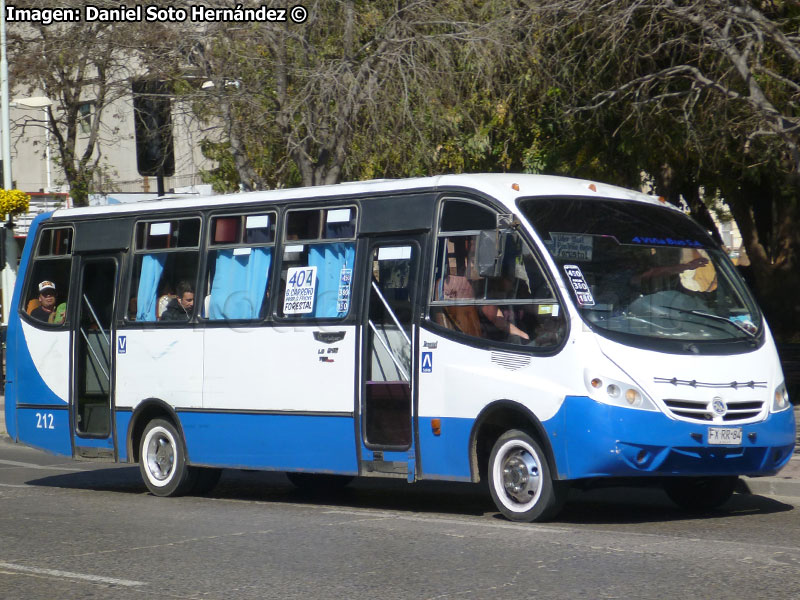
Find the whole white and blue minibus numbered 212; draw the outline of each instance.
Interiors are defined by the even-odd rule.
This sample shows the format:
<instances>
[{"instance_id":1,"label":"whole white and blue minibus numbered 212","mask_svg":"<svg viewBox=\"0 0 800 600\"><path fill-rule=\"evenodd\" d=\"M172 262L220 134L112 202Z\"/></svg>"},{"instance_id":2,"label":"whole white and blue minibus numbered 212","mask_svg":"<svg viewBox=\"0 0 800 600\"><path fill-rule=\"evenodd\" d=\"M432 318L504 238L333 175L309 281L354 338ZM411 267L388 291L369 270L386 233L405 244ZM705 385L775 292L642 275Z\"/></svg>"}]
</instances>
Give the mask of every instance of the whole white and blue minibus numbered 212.
<instances>
[{"instance_id":1,"label":"whole white and blue minibus numbered 212","mask_svg":"<svg viewBox=\"0 0 800 600\"><path fill-rule=\"evenodd\" d=\"M569 178L448 175L57 210L31 226L6 425L139 463L159 496L223 468L298 485L485 481L552 517L639 478L714 507L776 473L775 344L680 210Z\"/></svg>"}]
</instances>

